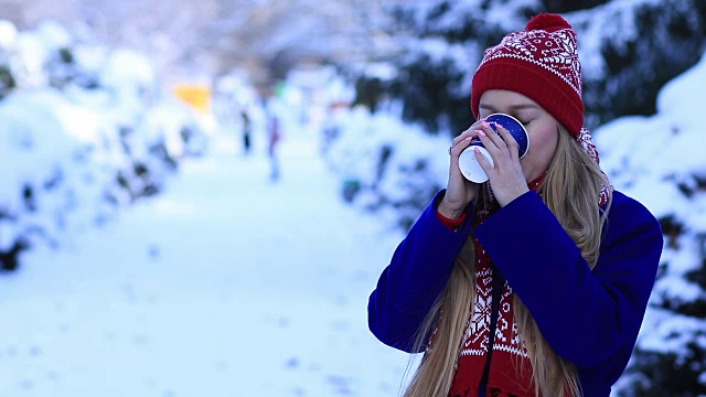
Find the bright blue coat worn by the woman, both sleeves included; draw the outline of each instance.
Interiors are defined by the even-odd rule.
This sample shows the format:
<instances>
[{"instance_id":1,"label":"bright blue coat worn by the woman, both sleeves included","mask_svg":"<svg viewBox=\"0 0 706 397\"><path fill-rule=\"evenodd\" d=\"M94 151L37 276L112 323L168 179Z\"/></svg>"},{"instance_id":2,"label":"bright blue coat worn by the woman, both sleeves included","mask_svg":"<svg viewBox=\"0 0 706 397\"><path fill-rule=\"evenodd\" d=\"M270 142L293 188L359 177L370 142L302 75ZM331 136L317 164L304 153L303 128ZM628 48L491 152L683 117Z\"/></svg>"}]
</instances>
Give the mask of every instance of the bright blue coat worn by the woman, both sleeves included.
<instances>
[{"instance_id":1,"label":"bright blue coat worn by the woman, both sleeves included","mask_svg":"<svg viewBox=\"0 0 706 397\"><path fill-rule=\"evenodd\" d=\"M409 353L415 333L447 285L472 222L451 230L437 217L437 194L399 244L370 297L368 325ZM469 207L469 219L473 208ZM662 254L660 224L616 191L600 258L591 271L537 193L530 191L473 230L542 334L578 367L584 396L609 396L638 337Z\"/></svg>"}]
</instances>

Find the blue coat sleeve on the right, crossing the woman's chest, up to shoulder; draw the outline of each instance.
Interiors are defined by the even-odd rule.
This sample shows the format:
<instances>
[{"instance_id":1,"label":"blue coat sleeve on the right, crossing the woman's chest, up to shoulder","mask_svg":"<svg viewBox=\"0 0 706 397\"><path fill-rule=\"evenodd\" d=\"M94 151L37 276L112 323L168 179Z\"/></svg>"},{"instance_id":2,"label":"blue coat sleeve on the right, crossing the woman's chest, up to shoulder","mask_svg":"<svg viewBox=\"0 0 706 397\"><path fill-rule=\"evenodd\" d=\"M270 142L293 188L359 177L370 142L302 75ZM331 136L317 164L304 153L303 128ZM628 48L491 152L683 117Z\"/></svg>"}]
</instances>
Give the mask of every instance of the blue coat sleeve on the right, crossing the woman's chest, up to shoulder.
<instances>
[{"instance_id":1,"label":"blue coat sleeve on the right, crossing the woman's chest, up to shoulder","mask_svg":"<svg viewBox=\"0 0 706 397\"><path fill-rule=\"evenodd\" d=\"M535 192L475 230L545 340L579 367L599 364L625 344L634 346L663 248L654 216L618 192L606 227L592 271Z\"/></svg>"}]
</instances>

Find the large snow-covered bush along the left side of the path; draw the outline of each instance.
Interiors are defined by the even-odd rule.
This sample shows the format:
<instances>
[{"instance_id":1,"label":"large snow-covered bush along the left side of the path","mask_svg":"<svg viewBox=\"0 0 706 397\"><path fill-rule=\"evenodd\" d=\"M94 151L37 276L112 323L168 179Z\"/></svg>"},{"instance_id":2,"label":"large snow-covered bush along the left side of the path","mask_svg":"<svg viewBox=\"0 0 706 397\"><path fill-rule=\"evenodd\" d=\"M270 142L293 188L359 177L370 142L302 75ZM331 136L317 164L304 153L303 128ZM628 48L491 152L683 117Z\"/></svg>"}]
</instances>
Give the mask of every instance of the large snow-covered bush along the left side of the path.
<instances>
[{"instance_id":1,"label":"large snow-covered bush along the left side of the path","mask_svg":"<svg viewBox=\"0 0 706 397\"><path fill-rule=\"evenodd\" d=\"M0 22L0 261L105 222L157 193L181 159L206 149L186 105L159 89L149 60L75 42L44 23ZM0 82L4 82L0 72Z\"/></svg>"}]
</instances>

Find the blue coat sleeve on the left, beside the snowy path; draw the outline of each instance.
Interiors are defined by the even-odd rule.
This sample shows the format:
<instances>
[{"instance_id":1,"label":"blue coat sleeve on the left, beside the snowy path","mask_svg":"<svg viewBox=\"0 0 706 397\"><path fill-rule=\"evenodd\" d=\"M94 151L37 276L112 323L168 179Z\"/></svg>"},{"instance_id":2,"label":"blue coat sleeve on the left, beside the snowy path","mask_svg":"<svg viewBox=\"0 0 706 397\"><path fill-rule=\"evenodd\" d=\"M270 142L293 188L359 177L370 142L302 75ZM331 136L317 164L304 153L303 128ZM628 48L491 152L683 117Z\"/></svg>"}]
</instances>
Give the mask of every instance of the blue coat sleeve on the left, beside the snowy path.
<instances>
[{"instance_id":1,"label":"blue coat sleeve on the left, beside the snowy path","mask_svg":"<svg viewBox=\"0 0 706 397\"><path fill-rule=\"evenodd\" d=\"M373 334L388 346L409 352L427 313L446 288L470 233L470 222L451 230L437 216L439 192L397 246L367 304ZM469 216L472 218L472 216Z\"/></svg>"}]
</instances>

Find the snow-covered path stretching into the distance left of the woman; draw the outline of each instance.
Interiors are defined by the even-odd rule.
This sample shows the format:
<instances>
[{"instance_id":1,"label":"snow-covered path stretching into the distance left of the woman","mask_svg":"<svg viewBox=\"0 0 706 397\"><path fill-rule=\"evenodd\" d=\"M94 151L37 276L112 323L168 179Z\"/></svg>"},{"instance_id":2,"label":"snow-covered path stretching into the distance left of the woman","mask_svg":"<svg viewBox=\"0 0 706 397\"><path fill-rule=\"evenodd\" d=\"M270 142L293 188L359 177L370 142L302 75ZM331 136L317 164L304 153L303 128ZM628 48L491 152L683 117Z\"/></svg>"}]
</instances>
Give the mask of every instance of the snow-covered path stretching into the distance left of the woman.
<instances>
[{"instance_id":1,"label":"snow-covered path stretching into the distance left of the woman","mask_svg":"<svg viewBox=\"0 0 706 397\"><path fill-rule=\"evenodd\" d=\"M338 201L312 139L279 184L221 148L0 277L1 397L397 395L366 302L402 235Z\"/></svg>"}]
</instances>

